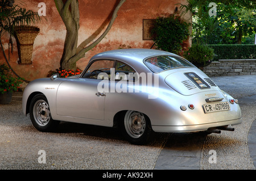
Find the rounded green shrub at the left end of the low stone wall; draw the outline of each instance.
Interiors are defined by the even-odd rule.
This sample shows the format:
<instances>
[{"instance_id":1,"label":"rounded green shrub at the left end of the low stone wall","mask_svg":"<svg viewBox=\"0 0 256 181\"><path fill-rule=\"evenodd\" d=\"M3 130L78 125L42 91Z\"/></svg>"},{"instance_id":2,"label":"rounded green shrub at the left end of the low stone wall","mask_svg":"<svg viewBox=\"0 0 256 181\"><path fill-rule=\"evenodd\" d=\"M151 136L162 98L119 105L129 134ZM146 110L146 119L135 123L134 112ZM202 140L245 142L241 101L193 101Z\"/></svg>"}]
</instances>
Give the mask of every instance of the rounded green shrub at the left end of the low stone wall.
<instances>
[{"instance_id":1,"label":"rounded green shrub at the left end of the low stone wall","mask_svg":"<svg viewBox=\"0 0 256 181\"><path fill-rule=\"evenodd\" d=\"M184 57L197 67L209 65L212 62L213 56L212 48L200 44L192 44L184 53Z\"/></svg>"}]
</instances>

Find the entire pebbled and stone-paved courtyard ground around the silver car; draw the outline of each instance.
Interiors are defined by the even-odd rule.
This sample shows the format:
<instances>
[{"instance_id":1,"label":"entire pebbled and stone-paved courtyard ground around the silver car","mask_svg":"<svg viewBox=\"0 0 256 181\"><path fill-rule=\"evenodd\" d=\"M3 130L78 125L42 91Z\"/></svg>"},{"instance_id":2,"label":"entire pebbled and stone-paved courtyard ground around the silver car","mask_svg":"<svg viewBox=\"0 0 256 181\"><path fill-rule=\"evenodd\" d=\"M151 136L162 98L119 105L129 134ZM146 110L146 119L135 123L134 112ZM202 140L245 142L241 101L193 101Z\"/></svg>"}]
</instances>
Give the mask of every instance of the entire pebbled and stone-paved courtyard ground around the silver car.
<instances>
[{"instance_id":1,"label":"entire pebbled and stone-paved courtyard ground around the silver car","mask_svg":"<svg viewBox=\"0 0 256 181\"><path fill-rule=\"evenodd\" d=\"M143 146L129 144L114 128L93 125L61 123L55 133L39 132L22 114L22 92L16 92L11 104L0 105L0 169L255 169L256 75L212 79L240 100L243 123L234 132L156 133ZM46 163L38 161L40 150ZM217 163L209 163L210 150Z\"/></svg>"}]
</instances>

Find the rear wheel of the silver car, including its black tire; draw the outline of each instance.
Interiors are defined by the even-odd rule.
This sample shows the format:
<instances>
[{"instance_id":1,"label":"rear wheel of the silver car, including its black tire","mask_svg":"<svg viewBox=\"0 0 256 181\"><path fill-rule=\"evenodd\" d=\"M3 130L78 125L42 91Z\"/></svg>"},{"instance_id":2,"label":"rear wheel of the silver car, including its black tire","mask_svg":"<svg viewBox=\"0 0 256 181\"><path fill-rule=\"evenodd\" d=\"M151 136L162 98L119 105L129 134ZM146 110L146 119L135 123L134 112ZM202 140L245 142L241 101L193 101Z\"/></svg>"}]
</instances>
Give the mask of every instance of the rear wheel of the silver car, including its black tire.
<instances>
[{"instance_id":1,"label":"rear wheel of the silver car, including its black tire","mask_svg":"<svg viewBox=\"0 0 256 181\"><path fill-rule=\"evenodd\" d=\"M146 144L152 134L150 120L146 115L137 111L123 113L119 120L119 129L126 140L134 145Z\"/></svg>"}]
</instances>

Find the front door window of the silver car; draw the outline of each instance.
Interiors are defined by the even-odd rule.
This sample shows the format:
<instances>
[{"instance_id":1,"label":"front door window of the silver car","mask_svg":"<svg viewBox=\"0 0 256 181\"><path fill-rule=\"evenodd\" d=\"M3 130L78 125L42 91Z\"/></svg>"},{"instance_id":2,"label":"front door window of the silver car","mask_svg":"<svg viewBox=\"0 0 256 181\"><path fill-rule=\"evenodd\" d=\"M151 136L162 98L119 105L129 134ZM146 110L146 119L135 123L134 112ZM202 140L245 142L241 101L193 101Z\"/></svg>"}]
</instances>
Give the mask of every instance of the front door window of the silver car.
<instances>
[{"instance_id":1,"label":"front door window of the silver car","mask_svg":"<svg viewBox=\"0 0 256 181\"><path fill-rule=\"evenodd\" d=\"M82 75L82 78L104 79L106 75L110 78L110 69L113 67L114 60L94 61L86 70L84 75Z\"/></svg>"}]
</instances>

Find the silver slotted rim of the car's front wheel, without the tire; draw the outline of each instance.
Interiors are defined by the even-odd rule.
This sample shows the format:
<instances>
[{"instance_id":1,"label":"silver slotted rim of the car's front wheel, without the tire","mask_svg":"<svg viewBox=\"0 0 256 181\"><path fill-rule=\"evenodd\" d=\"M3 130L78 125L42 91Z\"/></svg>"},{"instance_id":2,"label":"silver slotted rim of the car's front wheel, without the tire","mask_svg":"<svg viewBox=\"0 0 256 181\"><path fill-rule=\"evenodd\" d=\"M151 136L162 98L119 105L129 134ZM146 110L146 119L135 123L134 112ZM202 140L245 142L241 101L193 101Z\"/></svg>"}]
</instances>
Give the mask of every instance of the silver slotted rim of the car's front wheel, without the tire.
<instances>
[{"instance_id":1,"label":"silver slotted rim of the car's front wheel, without the tire","mask_svg":"<svg viewBox=\"0 0 256 181\"><path fill-rule=\"evenodd\" d=\"M40 126L45 126L49 123L51 112L46 101L38 100L33 107L34 119Z\"/></svg>"}]
</instances>

